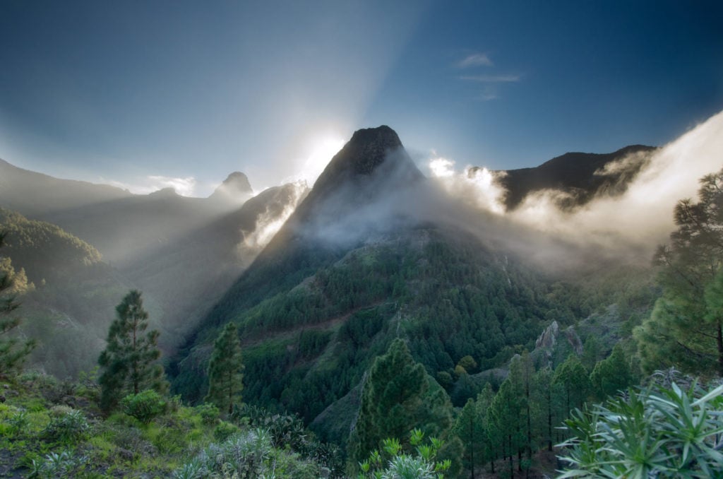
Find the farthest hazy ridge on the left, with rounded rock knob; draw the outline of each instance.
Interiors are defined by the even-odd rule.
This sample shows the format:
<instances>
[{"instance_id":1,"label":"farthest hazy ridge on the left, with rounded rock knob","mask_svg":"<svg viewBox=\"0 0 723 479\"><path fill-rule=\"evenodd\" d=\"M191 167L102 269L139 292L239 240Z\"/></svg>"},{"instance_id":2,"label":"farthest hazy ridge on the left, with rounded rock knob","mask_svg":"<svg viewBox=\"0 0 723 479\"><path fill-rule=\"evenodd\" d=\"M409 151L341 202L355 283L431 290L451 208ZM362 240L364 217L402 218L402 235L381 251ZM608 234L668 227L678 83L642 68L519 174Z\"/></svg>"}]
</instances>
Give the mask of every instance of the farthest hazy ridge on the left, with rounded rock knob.
<instances>
[{"instance_id":1,"label":"farthest hazy ridge on the left, with rounded rock knob","mask_svg":"<svg viewBox=\"0 0 723 479\"><path fill-rule=\"evenodd\" d=\"M57 224L98 248L114 266L126 266L142 253L208 225L251 196L251 185L239 172L229 175L210 198L186 198L172 188L134 195L0 160L0 207Z\"/></svg>"}]
</instances>

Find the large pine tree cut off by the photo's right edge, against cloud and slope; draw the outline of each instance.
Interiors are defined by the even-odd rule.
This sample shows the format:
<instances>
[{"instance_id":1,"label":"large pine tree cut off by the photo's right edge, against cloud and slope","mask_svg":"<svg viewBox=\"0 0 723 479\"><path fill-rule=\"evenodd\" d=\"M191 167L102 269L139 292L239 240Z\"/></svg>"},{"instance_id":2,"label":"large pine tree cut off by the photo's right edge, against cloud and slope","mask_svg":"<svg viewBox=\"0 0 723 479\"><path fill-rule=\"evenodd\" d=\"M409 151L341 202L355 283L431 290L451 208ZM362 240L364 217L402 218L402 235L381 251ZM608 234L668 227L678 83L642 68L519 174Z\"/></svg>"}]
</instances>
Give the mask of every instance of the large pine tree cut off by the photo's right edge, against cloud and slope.
<instances>
[{"instance_id":1,"label":"large pine tree cut off by the photo's right edge, against cloud and slope","mask_svg":"<svg viewBox=\"0 0 723 479\"><path fill-rule=\"evenodd\" d=\"M643 368L723 375L723 171L701 179L698 203L680 200L677 229L655 262L663 296L636 329Z\"/></svg>"}]
</instances>

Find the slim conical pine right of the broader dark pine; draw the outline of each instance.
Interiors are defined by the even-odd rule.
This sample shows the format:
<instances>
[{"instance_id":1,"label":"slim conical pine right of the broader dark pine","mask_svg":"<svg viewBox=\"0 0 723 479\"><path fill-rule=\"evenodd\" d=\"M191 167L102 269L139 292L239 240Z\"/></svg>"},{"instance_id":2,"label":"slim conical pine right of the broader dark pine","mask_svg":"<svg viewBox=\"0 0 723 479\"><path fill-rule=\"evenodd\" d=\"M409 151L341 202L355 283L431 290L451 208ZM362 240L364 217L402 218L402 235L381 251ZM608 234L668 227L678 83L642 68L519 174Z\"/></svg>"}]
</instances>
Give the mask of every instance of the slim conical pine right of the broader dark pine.
<instances>
[{"instance_id":1,"label":"slim conical pine right of the broader dark pine","mask_svg":"<svg viewBox=\"0 0 723 479\"><path fill-rule=\"evenodd\" d=\"M221 411L228 410L228 414L234 412L234 402L241 402L244 389L243 370L239 334L236 325L228 323L213 344L208 363L208 394L204 400Z\"/></svg>"}]
</instances>

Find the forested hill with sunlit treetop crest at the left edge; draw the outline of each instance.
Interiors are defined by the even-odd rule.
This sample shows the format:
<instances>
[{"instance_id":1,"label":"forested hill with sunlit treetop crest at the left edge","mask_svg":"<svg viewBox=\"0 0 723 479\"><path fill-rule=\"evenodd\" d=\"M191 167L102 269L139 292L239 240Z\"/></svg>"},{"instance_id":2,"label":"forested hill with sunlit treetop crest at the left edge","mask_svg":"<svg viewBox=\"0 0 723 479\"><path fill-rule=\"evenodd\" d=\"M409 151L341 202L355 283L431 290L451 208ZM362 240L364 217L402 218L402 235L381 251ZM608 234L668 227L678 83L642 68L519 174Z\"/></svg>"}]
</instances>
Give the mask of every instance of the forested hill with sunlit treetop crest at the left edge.
<instances>
[{"instance_id":1,"label":"forested hill with sunlit treetop crest at the left edge","mask_svg":"<svg viewBox=\"0 0 723 479\"><path fill-rule=\"evenodd\" d=\"M0 255L29 284L21 295L20 326L38 342L29 364L59 378L90 370L129 282L103 263L95 247L59 226L0 208L0 230L7 232Z\"/></svg>"}]
</instances>

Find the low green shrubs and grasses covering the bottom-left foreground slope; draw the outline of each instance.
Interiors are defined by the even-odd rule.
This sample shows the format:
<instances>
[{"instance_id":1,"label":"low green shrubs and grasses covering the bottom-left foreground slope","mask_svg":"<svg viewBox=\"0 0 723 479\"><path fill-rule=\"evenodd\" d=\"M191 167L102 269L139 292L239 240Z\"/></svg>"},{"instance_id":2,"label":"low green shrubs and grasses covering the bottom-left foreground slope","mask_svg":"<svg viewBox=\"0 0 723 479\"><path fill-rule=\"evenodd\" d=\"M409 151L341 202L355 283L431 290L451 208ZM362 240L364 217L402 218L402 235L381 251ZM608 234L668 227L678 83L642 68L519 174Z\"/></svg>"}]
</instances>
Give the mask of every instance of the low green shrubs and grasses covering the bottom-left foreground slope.
<instances>
[{"instance_id":1,"label":"low green shrubs and grasses covering the bottom-left foreground slope","mask_svg":"<svg viewBox=\"0 0 723 479\"><path fill-rule=\"evenodd\" d=\"M317 478L341 475L341 456L289 415L205 404L149 391L107 417L95 378L25 373L2 384L0 476L37 478Z\"/></svg>"}]
</instances>

